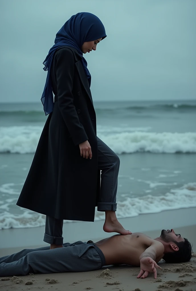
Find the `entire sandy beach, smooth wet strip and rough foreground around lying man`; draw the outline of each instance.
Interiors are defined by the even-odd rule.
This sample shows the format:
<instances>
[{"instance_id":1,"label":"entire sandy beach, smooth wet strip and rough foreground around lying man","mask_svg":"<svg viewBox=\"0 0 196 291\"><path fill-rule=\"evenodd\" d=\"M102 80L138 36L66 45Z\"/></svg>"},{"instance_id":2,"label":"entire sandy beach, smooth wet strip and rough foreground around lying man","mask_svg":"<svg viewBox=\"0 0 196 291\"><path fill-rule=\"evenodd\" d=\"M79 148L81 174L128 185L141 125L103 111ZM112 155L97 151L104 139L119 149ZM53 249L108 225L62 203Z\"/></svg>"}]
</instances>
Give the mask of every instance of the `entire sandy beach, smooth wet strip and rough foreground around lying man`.
<instances>
[{"instance_id":1,"label":"entire sandy beach, smooth wet strip and rough foreground around lying man","mask_svg":"<svg viewBox=\"0 0 196 291\"><path fill-rule=\"evenodd\" d=\"M173 221L172 218L173 217ZM148 278L137 279L139 267L128 265L106 266L100 270L81 273L55 273L55 274L29 274L28 276L8 277L0 279L0 290L119 290L119 291L195 291L196 290L196 225L195 208L165 211L157 214L140 215L130 219L121 219L123 225L130 226L133 232L139 231L146 233L150 237L160 236L160 231L172 227L177 233L193 244L193 254L190 262L182 264L166 264L161 261L159 264L162 270L158 271L157 279L153 274ZM176 219L177 218L177 219ZM154 224L152 223L154 221ZM149 230L145 231L145 225L142 221L148 221ZM137 226L136 226L137 223ZM169 225L168 225L169 224ZM64 241L67 231L67 241L73 242L79 239L92 239L89 234L93 234L93 241L99 238L108 237L113 234L107 234L101 230L102 221L93 223L76 222L64 224ZM159 228L157 227L159 225ZM179 226L181 225L181 226ZM82 227L81 227L82 226ZM72 232L71 232L72 227ZM91 232L91 227L94 231ZM68 232L69 229L69 232ZM81 232L79 231L81 229ZM136 230L137 229L137 230ZM43 228L31 229L8 229L1 230L1 249L0 256L8 255L24 248L43 246L41 232ZM23 233L23 237L22 237ZM37 233L37 236L35 236ZM81 236L83 233L83 236ZM30 235L31 234L31 235ZM12 237L12 242L10 238ZM13 237L15 237L16 246L13 247ZM20 237L20 240L18 239ZM27 238L25 240L25 237ZM31 239L32 244L29 244ZM8 242L5 246L6 240ZM26 242L26 244L24 244ZM12 247L11 247L12 245Z\"/></svg>"}]
</instances>

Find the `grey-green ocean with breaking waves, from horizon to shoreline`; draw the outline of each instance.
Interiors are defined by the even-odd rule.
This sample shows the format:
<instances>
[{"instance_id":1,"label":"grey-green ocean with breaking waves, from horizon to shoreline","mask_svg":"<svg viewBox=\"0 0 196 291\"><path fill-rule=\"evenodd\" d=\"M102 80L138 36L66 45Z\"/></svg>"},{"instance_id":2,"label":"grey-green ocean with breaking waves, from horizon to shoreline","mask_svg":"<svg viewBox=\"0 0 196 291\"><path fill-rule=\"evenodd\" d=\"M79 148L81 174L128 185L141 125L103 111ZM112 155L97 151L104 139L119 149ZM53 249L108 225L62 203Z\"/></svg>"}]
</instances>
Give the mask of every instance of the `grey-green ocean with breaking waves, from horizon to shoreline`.
<instances>
[{"instance_id":1,"label":"grey-green ocean with breaking waves, from horizon to shoreline","mask_svg":"<svg viewBox=\"0 0 196 291\"><path fill-rule=\"evenodd\" d=\"M117 217L196 207L196 100L94 106L97 136L120 157ZM16 202L46 118L41 102L0 103L0 229L45 224Z\"/></svg>"}]
</instances>

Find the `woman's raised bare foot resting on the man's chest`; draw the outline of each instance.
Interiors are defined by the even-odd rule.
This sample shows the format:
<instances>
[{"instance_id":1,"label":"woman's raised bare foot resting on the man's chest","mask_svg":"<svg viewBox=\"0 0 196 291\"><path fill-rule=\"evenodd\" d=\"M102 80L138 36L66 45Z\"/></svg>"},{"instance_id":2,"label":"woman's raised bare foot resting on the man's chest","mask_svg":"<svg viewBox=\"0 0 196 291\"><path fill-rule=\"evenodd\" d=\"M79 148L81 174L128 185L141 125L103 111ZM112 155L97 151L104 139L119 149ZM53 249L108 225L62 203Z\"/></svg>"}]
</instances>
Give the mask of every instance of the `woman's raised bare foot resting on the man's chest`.
<instances>
[{"instance_id":1,"label":"woman's raised bare foot resting on the man's chest","mask_svg":"<svg viewBox=\"0 0 196 291\"><path fill-rule=\"evenodd\" d=\"M121 235L131 235L132 233L120 224L114 211L106 211L106 220L103 226L106 233L120 233Z\"/></svg>"}]
</instances>

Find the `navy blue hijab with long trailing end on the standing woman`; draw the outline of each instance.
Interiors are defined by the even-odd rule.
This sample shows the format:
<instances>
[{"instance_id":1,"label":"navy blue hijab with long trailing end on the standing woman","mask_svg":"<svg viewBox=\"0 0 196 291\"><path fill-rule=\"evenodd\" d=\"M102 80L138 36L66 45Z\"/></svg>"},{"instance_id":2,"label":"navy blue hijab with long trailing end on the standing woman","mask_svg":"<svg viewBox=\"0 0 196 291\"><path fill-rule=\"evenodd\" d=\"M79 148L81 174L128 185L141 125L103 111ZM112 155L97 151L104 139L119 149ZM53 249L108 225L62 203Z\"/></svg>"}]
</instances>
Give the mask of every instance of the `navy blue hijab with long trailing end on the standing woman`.
<instances>
[{"instance_id":1,"label":"navy blue hijab with long trailing end on the standing woman","mask_svg":"<svg viewBox=\"0 0 196 291\"><path fill-rule=\"evenodd\" d=\"M76 15L71 16L71 18L67 20L67 22L65 22L65 24L62 26L60 31L57 32L55 44L53 45L53 47L51 47L48 52L48 56L43 62L43 64L45 65L43 70L48 71L46 84L43 90L43 94L41 96L43 110L46 115L53 111L54 105L50 69L56 49L64 45L77 49L78 53L81 55L82 65L88 77L88 82L90 86L91 75L87 68L87 61L83 57L81 47L86 41L93 41L98 38L104 39L105 37L106 32L101 20L96 15L88 12L80 12Z\"/></svg>"}]
</instances>

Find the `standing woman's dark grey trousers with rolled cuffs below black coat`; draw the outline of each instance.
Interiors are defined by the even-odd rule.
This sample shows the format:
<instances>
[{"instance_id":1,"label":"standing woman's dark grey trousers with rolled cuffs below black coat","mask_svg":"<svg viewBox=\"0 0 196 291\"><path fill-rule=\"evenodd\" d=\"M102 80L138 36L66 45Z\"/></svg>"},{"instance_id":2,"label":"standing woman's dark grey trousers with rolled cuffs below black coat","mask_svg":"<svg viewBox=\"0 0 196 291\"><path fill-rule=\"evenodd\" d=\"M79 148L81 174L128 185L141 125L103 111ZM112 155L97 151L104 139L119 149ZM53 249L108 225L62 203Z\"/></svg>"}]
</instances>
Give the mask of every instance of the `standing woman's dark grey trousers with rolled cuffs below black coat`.
<instances>
[{"instance_id":1,"label":"standing woman's dark grey trousers with rolled cuffs below black coat","mask_svg":"<svg viewBox=\"0 0 196 291\"><path fill-rule=\"evenodd\" d=\"M119 157L101 139L97 137L98 168L101 170L101 189L97 203L98 211L116 211L116 194L118 187ZM93 153L92 153L93 154ZM44 242L63 244L63 220L46 216Z\"/></svg>"}]
</instances>

